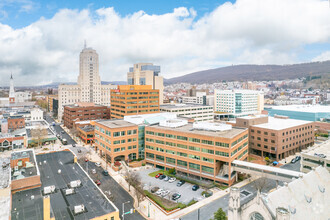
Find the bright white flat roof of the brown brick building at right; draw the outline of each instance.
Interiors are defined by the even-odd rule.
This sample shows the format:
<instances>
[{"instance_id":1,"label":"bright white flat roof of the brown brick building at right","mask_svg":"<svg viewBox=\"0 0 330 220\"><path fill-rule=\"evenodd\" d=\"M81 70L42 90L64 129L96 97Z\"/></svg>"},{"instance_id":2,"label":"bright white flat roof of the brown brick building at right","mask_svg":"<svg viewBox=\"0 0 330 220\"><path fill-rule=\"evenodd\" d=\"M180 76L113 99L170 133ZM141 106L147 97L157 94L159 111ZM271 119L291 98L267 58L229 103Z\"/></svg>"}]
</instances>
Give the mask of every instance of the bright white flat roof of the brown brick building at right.
<instances>
[{"instance_id":1,"label":"bright white flat roof of the brown brick building at right","mask_svg":"<svg viewBox=\"0 0 330 220\"><path fill-rule=\"evenodd\" d=\"M288 129L300 125L305 125L312 123L312 121L303 121L303 120L296 120L296 119L282 119L282 118L274 118L268 117L268 123L259 124L259 125L252 125L252 127L256 128L265 128L271 130L283 130Z\"/></svg>"}]
</instances>

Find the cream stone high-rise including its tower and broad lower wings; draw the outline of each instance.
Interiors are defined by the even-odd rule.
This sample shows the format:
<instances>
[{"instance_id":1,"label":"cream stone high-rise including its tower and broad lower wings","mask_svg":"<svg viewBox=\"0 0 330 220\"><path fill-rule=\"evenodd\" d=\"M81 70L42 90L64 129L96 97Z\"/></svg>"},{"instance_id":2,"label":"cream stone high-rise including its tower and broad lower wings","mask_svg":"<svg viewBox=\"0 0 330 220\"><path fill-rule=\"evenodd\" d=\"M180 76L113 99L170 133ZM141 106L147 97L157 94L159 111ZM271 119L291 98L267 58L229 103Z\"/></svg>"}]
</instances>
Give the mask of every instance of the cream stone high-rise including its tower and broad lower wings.
<instances>
[{"instance_id":1,"label":"cream stone high-rise including its tower and broad lower wings","mask_svg":"<svg viewBox=\"0 0 330 220\"><path fill-rule=\"evenodd\" d=\"M58 87L58 119L62 120L64 106L76 102L93 102L110 106L110 90L116 85L101 85L99 56L96 50L84 48L80 52L79 76L76 85Z\"/></svg>"}]
</instances>

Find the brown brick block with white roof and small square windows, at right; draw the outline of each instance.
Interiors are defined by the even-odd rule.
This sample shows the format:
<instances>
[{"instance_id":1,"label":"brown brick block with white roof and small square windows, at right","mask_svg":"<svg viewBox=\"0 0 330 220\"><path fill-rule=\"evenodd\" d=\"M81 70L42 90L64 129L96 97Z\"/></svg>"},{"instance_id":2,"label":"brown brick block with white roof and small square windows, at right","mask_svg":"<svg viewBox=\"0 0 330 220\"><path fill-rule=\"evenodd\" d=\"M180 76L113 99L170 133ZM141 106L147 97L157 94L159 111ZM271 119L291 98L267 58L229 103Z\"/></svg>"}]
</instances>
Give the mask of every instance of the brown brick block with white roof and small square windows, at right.
<instances>
[{"instance_id":1,"label":"brown brick block with white roof and small square windows, at right","mask_svg":"<svg viewBox=\"0 0 330 220\"><path fill-rule=\"evenodd\" d=\"M245 116L236 126L249 128L251 154L281 160L314 144L314 124L277 116Z\"/></svg>"}]
</instances>

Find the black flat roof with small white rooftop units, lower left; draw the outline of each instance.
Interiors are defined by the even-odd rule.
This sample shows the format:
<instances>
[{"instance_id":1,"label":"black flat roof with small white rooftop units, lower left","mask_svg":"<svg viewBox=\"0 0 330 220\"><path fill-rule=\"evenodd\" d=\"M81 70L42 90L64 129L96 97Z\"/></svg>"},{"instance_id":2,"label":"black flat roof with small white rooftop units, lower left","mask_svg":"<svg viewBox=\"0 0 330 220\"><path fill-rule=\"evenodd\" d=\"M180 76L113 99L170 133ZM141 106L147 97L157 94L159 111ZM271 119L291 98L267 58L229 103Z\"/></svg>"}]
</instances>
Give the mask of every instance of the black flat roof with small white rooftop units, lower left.
<instances>
[{"instance_id":1,"label":"black flat roof with small white rooftop units, lower left","mask_svg":"<svg viewBox=\"0 0 330 220\"><path fill-rule=\"evenodd\" d=\"M74 155L70 151L41 154L36 157L38 164L41 163L39 169L42 187L12 195L12 220L42 220L42 190L51 185L56 187L55 192L50 194L51 213L55 219L73 219L71 212L74 206L81 204L87 212L74 216L74 219L93 219L117 211L85 171L77 163L73 163ZM61 170L60 174L58 170ZM82 186L75 188L75 194L66 196L61 190L68 189L68 184L74 180L80 180ZM31 195L34 195L34 199L31 199Z\"/></svg>"}]
</instances>

